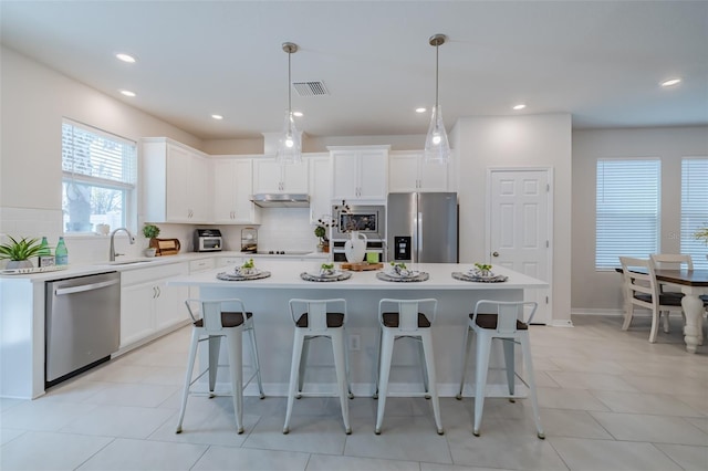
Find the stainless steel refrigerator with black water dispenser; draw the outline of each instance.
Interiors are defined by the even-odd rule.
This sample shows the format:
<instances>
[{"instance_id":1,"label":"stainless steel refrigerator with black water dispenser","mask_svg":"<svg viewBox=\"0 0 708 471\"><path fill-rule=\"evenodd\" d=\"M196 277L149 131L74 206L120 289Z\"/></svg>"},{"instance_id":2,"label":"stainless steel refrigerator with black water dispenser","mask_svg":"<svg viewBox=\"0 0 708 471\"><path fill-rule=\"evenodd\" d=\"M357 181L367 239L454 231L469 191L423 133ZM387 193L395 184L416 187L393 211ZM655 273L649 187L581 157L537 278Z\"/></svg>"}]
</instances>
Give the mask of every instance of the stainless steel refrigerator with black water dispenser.
<instances>
[{"instance_id":1,"label":"stainless steel refrigerator with black water dispenser","mask_svg":"<svg viewBox=\"0 0 708 471\"><path fill-rule=\"evenodd\" d=\"M457 193L388 193L386 214L389 262L458 262Z\"/></svg>"}]
</instances>

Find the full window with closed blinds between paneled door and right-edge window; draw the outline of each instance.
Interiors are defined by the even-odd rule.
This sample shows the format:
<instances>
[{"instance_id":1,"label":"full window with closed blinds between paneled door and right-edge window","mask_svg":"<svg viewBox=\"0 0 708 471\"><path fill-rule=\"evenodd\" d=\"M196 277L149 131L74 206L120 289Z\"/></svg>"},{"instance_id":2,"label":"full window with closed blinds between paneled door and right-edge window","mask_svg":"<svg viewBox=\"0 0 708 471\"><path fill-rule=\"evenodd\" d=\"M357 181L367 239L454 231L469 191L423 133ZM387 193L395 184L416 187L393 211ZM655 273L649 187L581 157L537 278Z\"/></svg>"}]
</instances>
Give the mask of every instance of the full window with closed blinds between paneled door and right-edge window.
<instances>
[{"instance_id":1,"label":"full window with closed blinds between paneled door and right-edge window","mask_svg":"<svg viewBox=\"0 0 708 471\"><path fill-rule=\"evenodd\" d=\"M660 174L658 159L597 160L595 269L658 252Z\"/></svg>"}]
</instances>

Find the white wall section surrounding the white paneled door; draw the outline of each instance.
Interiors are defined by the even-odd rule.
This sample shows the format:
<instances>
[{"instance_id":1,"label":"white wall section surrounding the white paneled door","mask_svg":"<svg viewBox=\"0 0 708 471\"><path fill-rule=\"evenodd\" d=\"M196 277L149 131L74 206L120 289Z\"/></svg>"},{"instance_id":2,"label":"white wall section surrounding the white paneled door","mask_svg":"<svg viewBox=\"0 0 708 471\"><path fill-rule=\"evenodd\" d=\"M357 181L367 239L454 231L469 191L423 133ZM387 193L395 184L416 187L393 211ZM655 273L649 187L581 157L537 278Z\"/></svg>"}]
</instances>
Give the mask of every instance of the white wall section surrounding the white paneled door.
<instances>
[{"instance_id":1,"label":"white wall section surrounding the white paneled door","mask_svg":"<svg viewBox=\"0 0 708 471\"><path fill-rule=\"evenodd\" d=\"M487 169L552 167L553 321L570 320L571 116L569 114L461 118L451 133L458 154L460 262L488 260L485 251Z\"/></svg>"}]
</instances>

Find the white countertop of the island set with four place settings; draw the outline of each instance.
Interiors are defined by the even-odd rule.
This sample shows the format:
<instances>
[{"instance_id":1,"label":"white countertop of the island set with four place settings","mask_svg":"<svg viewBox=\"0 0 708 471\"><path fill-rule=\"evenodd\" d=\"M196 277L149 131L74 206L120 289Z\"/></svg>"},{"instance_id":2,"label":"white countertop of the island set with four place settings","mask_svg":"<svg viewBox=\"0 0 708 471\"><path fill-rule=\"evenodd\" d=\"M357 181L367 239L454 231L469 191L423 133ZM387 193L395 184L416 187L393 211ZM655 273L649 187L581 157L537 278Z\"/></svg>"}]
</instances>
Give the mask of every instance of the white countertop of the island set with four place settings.
<instances>
[{"instance_id":1,"label":"white countertop of the island set with four place settings","mask_svg":"<svg viewBox=\"0 0 708 471\"><path fill-rule=\"evenodd\" d=\"M219 272L232 271L232 268L221 268L195 273L187 276L176 276L168 281L174 285L191 285L208 287L248 287L259 289L299 289L299 290L509 290L548 287L544 281L518 273L502 266L494 266L494 274L507 275L509 279L501 283L481 283L460 281L452 278L452 272L467 272L471 263L409 263L412 270L424 271L429 279L423 282L388 282L376 278L377 270L352 272L352 278L336 282L311 282L300 278L302 272L316 273L321 262L282 262L263 260L256 263L256 268L269 271L271 275L261 280L222 281L217 279ZM387 269L384 265L384 269Z\"/></svg>"}]
</instances>

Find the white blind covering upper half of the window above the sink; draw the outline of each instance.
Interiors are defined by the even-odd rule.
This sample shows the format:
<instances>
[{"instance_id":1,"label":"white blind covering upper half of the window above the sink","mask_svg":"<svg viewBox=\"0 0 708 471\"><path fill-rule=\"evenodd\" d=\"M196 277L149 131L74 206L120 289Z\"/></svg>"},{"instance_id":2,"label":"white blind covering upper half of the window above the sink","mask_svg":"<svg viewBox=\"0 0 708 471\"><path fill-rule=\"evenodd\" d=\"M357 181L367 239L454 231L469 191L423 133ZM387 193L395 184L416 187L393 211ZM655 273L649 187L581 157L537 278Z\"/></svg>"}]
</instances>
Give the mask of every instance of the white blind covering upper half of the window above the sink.
<instances>
[{"instance_id":1,"label":"white blind covering upper half of the window above the sink","mask_svg":"<svg viewBox=\"0 0 708 471\"><path fill-rule=\"evenodd\" d=\"M62 170L66 178L132 188L136 154L132 140L67 119L62 123Z\"/></svg>"}]
</instances>

